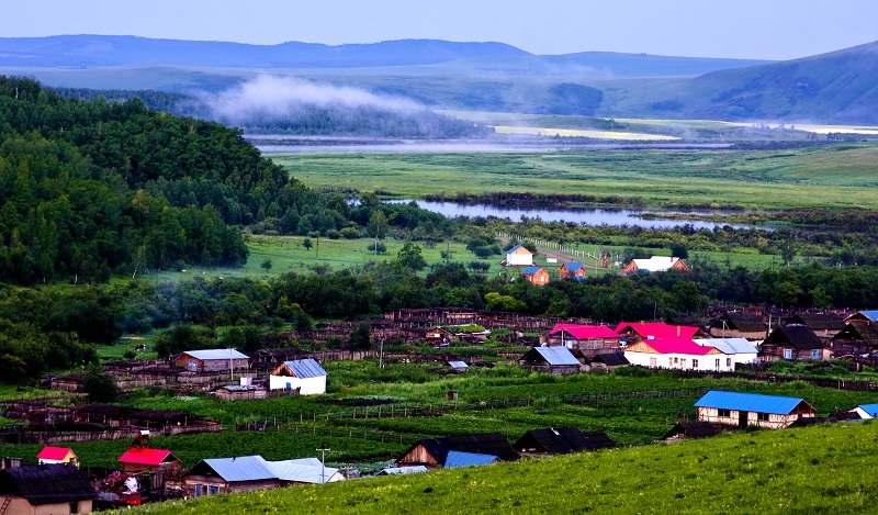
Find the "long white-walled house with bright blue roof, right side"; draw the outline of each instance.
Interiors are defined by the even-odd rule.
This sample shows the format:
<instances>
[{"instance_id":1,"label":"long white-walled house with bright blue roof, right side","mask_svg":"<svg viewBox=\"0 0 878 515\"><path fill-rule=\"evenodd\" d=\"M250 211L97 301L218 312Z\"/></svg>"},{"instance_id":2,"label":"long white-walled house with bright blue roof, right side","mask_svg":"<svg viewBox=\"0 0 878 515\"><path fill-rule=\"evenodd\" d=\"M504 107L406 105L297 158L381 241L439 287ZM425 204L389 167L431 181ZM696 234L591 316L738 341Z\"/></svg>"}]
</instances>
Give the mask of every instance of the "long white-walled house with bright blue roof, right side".
<instances>
[{"instance_id":1,"label":"long white-walled house with bright blue roof, right side","mask_svg":"<svg viewBox=\"0 0 878 515\"><path fill-rule=\"evenodd\" d=\"M761 395L756 393L721 392L711 390L698 402L698 422L772 429L788 427L798 418L813 417L814 407L799 398Z\"/></svg>"}]
</instances>

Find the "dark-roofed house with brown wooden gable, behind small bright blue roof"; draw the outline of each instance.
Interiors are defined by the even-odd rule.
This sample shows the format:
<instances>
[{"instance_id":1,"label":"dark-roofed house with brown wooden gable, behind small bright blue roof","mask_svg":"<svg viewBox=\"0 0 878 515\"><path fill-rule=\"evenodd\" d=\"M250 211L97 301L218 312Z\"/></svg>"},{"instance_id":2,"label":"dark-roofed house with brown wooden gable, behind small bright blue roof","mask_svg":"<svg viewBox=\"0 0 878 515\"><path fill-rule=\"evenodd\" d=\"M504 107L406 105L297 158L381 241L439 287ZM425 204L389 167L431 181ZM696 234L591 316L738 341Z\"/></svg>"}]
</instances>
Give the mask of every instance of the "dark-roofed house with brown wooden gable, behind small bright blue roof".
<instances>
[{"instance_id":1,"label":"dark-roofed house with brown wooden gable, behind small bright blue roof","mask_svg":"<svg viewBox=\"0 0 878 515\"><path fill-rule=\"evenodd\" d=\"M476 455L492 455L503 461L515 461L518 452L499 433L429 438L417 441L398 460L399 467L424 466L428 469L444 467L452 450Z\"/></svg>"}]
</instances>

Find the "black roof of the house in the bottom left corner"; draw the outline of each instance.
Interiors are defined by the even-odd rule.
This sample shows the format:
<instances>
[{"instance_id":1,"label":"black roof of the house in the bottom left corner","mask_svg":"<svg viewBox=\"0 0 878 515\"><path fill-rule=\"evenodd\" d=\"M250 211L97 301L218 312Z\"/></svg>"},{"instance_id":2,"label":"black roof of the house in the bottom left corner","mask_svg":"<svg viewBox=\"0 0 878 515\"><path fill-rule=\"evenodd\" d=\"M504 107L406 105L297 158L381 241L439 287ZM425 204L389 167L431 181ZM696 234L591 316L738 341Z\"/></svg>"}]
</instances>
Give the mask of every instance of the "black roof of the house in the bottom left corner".
<instances>
[{"instance_id":1,"label":"black roof of the house in the bottom left corner","mask_svg":"<svg viewBox=\"0 0 878 515\"><path fill-rule=\"evenodd\" d=\"M34 506L88 501L98 496L86 473L60 463L0 470L0 495L21 495Z\"/></svg>"}]
</instances>

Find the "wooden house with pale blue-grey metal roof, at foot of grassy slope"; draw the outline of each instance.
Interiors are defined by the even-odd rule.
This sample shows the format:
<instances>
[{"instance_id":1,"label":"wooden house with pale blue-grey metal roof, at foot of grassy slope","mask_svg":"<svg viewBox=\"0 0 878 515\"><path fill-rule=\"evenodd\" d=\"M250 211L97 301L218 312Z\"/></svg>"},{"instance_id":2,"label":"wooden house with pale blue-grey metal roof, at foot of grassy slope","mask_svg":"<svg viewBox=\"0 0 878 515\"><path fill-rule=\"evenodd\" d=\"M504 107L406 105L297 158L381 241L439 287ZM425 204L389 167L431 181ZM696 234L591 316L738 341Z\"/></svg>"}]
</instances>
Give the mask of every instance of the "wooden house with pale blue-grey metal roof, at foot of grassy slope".
<instances>
[{"instance_id":1,"label":"wooden house with pale blue-grey metal roof, at foot of grassy slope","mask_svg":"<svg viewBox=\"0 0 878 515\"><path fill-rule=\"evenodd\" d=\"M261 456L203 459L182 478L187 495L249 492L280 485L278 474Z\"/></svg>"}]
</instances>

